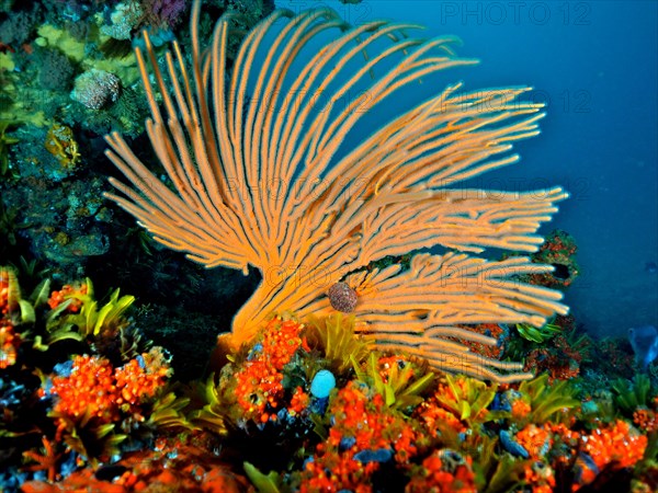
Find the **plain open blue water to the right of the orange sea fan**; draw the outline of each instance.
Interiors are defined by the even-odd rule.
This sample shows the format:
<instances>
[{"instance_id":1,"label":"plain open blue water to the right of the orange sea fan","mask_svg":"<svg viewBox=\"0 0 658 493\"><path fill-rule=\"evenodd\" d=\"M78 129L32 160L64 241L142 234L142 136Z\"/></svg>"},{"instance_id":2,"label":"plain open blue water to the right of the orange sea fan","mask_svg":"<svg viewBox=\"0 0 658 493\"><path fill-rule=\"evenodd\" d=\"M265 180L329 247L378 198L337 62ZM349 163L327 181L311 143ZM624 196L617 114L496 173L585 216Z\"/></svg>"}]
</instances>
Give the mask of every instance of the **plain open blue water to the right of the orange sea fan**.
<instances>
[{"instance_id":1,"label":"plain open blue water to the right of the orange sea fan","mask_svg":"<svg viewBox=\"0 0 658 493\"><path fill-rule=\"evenodd\" d=\"M452 2L280 1L295 12L336 9L352 24L393 19L426 25L426 35L455 34L458 54L481 60L446 71L442 83L415 87L429 96L464 81L466 90L532 85L547 104L542 135L520 142L521 162L475 180L494 190L559 184L554 228L577 240L581 275L566 301L592 335L658 326L657 5L655 1ZM417 101L418 102L418 101ZM384 113L408 108L406 98ZM381 122L381 118L377 119ZM367 136L351 136L355 141Z\"/></svg>"}]
</instances>

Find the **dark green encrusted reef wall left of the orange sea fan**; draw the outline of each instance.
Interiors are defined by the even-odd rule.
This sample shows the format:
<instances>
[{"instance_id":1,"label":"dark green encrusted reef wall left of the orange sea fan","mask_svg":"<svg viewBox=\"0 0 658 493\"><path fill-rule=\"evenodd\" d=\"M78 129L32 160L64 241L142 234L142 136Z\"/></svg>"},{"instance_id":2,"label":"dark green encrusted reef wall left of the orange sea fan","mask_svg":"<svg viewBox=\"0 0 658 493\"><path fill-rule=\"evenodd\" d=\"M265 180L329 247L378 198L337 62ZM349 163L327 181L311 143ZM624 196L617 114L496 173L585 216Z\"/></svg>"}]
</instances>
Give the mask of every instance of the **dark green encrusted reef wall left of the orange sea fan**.
<instances>
[{"instance_id":1,"label":"dark green encrusted reef wall left of the orange sea fan","mask_svg":"<svg viewBox=\"0 0 658 493\"><path fill-rule=\"evenodd\" d=\"M0 242L11 254L4 262L18 265L25 255L70 280L101 255L122 259L118 231L127 227L120 228L121 218L99 204L106 190L99 180L107 174L100 139L112 130L144 134L148 106L135 84L132 43L143 28L171 41L189 3L37 0L13 2L0 13L0 210L15 213L7 225L11 248ZM220 15L245 7L238 3L209 11ZM269 12L257 7L246 30ZM104 32L121 13L133 18L123 39L114 39ZM242 36L234 33L231 44Z\"/></svg>"}]
</instances>

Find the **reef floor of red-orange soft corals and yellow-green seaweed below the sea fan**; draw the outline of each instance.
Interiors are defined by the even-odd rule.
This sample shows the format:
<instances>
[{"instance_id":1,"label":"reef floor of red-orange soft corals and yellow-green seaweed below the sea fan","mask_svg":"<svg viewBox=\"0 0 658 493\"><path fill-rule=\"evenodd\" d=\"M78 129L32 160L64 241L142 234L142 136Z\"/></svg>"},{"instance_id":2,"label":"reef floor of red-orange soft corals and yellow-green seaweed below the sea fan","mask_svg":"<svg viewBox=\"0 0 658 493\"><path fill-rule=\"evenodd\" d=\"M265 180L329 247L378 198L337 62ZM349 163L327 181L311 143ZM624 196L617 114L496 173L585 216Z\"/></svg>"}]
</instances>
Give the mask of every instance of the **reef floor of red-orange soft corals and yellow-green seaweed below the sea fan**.
<instances>
[{"instance_id":1,"label":"reef floor of red-orange soft corals and yellow-green seaweed below the sea fan","mask_svg":"<svg viewBox=\"0 0 658 493\"><path fill-rule=\"evenodd\" d=\"M218 374L179 386L129 317L134 302L118 290L98 301L89 279L45 280L25 298L16 272L0 270L5 491L656 486L647 375L616 379L612 395L559 371L483 382L373 351L353 317L282 313Z\"/></svg>"}]
</instances>

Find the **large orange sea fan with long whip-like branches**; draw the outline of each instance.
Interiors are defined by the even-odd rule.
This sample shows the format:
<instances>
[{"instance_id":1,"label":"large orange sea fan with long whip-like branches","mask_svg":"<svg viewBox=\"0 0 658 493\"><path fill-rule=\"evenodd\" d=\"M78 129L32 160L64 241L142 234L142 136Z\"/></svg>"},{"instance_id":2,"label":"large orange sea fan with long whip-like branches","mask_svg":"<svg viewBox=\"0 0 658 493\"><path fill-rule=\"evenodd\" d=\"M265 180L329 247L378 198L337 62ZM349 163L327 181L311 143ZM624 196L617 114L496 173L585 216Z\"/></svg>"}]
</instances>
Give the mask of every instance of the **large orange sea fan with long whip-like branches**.
<instances>
[{"instance_id":1,"label":"large orange sea fan with long whip-like branches","mask_svg":"<svg viewBox=\"0 0 658 493\"><path fill-rule=\"evenodd\" d=\"M350 27L329 9L279 10L250 32L228 77L231 18L218 21L204 51L200 10L194 2L191 69L177 43L159 68L145 34L151 79L137 49L152 114L148 135L174 190L114 133L107 156L133 187L112 179L122 194L107 196L162 244L207 267L261 272L260 286L220 342L235 348L250 341L272 312L328 314L326 294L343 282L358 297L358 331L375 346L478 378L529 378L520 364L473 354L451 340L495 344L457 325L542 326L567 312L561 294L518 279L552 266L463 253L536 251L540 225L567 197L560 187L453 187L515 162L512 142L538 134L542 105L518 99L529 88L464 92L450 85L345 149L364 115L399 89L476 61L457 57L452 37L408 36L416 25ZM454 251L416 254L407 270L362 270L435 245Z\"/></svg>"}]
</instances>

